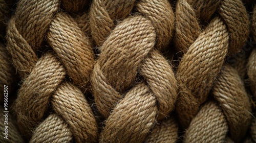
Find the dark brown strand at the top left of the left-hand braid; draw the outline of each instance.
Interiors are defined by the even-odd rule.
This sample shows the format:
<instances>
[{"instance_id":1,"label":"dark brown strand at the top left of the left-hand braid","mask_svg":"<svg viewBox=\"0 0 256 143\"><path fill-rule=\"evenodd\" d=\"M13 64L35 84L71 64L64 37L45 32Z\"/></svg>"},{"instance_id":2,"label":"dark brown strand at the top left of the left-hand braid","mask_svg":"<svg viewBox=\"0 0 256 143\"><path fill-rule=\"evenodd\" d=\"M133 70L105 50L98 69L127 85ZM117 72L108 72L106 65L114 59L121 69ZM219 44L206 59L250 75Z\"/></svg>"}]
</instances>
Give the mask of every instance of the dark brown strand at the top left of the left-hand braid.
<instances>
[{"instance_id":1,"label":"dark brown strand at the top left of the left-hand braid","mask_svg":"<svg viewBox=\"0 0 256 143\"><path fill-rule=\"evenodd\" d=\"M18 3L16 13L8 25L7 48L12 54L12 63L22 79L31 73L36 64L38 57L34 51L39 48L44 39L58 7L58 0L22 0Z\"/></svg>"}]
</instances>

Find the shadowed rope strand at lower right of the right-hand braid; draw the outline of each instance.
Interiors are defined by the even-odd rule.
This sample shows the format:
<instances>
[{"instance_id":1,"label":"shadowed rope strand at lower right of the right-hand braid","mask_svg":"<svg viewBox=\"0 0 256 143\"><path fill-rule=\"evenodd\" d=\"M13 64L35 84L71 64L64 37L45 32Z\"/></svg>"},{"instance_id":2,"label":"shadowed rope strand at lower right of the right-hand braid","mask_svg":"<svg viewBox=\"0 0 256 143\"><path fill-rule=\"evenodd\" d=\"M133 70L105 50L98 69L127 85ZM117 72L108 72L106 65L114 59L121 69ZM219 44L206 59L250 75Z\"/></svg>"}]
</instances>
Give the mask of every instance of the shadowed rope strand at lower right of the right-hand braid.
<instances>
[{"instance_id":1,"label":"shadowed rope strand at lower right of the right-hand braid","mask_svg":"<svg viewBox=\"0 0 256 143\"><path fill-rule=\"evenodd\" d=\"M231 138L236 142L240 141L250 124L251 106L238 71L225 64L212 94L226 115Z\"/></svg>"}]
</instances>

